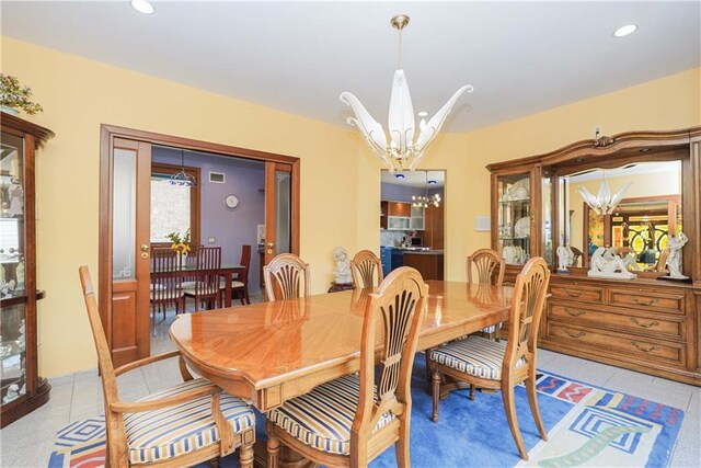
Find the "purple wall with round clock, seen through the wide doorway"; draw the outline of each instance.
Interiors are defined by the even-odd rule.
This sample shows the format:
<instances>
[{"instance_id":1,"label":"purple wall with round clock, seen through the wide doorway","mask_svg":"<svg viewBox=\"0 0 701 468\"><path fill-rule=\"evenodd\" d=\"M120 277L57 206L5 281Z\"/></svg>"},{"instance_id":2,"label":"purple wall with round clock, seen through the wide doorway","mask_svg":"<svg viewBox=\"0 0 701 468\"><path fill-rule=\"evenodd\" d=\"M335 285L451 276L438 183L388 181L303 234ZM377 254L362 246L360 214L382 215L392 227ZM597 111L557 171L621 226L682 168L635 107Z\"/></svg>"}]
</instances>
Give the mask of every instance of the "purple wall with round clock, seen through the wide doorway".
<instances>
[{"instance_id":1,"label":"purple wall with round clock, seen through the wide doorway","mask_svg":"<svg viewBox=\"0 0 701 468\"><path fill-rule=\"evenodd\" d=\"M181 164L181 153L171 148L153 147L153 162ZM221 247L221 263L239 263L241 246L251 246L251 269L249 270L249 293L261 290L258 272L261 269L257 253L257 225L265 224L265 194L258 189L265 187L264 163L233 158L185 153L185 167L200 168L200 236L205 246ZM209 182L209 172L223 172L223 184ZM229 210L223 204L228 194L239 197L239 207ZM214 237L214 243L208 238Z\"/></svg>"}]
</instances>

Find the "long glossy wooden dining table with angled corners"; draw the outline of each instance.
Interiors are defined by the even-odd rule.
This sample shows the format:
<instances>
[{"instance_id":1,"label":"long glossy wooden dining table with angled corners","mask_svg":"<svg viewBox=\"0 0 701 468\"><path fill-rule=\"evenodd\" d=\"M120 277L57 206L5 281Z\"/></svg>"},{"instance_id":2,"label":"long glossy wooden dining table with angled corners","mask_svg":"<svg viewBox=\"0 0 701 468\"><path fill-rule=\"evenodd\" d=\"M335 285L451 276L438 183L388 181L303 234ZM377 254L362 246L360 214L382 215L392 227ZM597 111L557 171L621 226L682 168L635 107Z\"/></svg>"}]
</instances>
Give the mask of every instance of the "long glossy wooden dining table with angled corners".
<instances>
[{"instance_id":1,"label":"long glossy wooden dining table with angled corners","mask_svg":"<svg viewBox=\"0 0 701 468\"><path fill-rule=\"evenodd\" d=\"M508 318L510 286L426 284L429 297L418 350ZM171 326L170 336L198 374L267 411L359 369L363 318L371 292L184 313Z\"/></svg>"}]
</instances>

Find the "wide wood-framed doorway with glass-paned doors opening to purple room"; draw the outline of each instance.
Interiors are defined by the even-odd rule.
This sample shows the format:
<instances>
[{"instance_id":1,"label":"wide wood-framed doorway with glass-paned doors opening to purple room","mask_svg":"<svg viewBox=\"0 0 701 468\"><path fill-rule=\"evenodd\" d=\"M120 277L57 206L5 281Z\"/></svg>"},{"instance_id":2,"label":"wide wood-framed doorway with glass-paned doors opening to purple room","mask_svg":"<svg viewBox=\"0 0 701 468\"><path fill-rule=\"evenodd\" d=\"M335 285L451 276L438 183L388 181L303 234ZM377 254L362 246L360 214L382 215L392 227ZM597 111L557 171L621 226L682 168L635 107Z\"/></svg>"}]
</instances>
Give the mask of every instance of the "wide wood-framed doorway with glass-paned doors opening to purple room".
<instances>
[{"instance_id":1,"label":"wide wood-framed doorway with glass-paned doors opening to purple room","mask_svg":"<svg viewBox=\"0 0 701 468\"><path fill-rule=\"evenodd\" d=\"M196 183L173 191L170 176L183 169ZM161 289L152 284L152 273L156 249L162 256L175 255L168 254L177 244L171 232L179 239L187 236L191 249L218 258L217 266L205 267L204 253L175 249L181 285L191 271L199 276L216 271L211 297L200 301L195 292L194 304L232 305L245 256L248 299L260 297L261 266L280 249L299 253L299 159L289 156L102 126L100 311L115 365L149 356L154 331L166 336L168 308L158 310L166 319L161 321L163 333L151 308L153 289ZM193 258L198 259L194 265ZM187 303L185 310L191 310L193 299Z\"/></svg>"}]
</instances>

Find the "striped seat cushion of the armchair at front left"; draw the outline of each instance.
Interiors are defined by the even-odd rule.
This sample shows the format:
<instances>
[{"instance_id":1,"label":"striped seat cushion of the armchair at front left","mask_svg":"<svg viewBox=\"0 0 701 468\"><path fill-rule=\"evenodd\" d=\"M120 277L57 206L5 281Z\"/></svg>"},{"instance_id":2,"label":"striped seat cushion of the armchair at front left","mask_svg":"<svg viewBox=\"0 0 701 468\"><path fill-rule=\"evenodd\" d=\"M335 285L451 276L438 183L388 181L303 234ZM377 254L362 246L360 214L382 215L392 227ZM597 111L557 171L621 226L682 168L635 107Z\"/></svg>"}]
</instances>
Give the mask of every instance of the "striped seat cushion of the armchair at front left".
<instances>
[{"instance_id":1,"label":"striped seat cushion of the armchair at front left","mask_svg":"<svg viewBox=\"0 0 701 468\"><path fill-rule=\"evenodd\" d=\"M210 385L204 378L180 384L138 401L173 397ZM234 433L255 425L255 415L243 400L221 393L220 408ZM219 441L211 416L211 397L206 396L176 407L142 413L127 413L124 423L131 464L161 461L197 450Z\"/></svg>"}]
</instances>

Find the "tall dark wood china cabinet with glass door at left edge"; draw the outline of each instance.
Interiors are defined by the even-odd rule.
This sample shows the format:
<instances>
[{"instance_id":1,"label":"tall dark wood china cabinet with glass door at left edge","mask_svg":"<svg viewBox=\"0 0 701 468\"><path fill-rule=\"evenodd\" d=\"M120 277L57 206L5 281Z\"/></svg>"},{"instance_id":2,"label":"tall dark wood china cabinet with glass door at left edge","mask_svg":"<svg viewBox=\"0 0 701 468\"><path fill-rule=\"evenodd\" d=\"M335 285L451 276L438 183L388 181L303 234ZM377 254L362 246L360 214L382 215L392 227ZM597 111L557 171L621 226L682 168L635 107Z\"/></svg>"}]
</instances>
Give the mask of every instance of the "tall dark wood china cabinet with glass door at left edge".
<instances>
[{"instance_id":1,"label":"tall dark wood china cabinet with glass door at left edge","mask_svg":"<svg viewBox=\"0 0 701 468\"><path fill-rule=\"evenodd\" d=\"M48 401L38 376L35 150L54 134L2 114L0 139L0 420L10 424Z\"/></svg>"}]
</instances>

